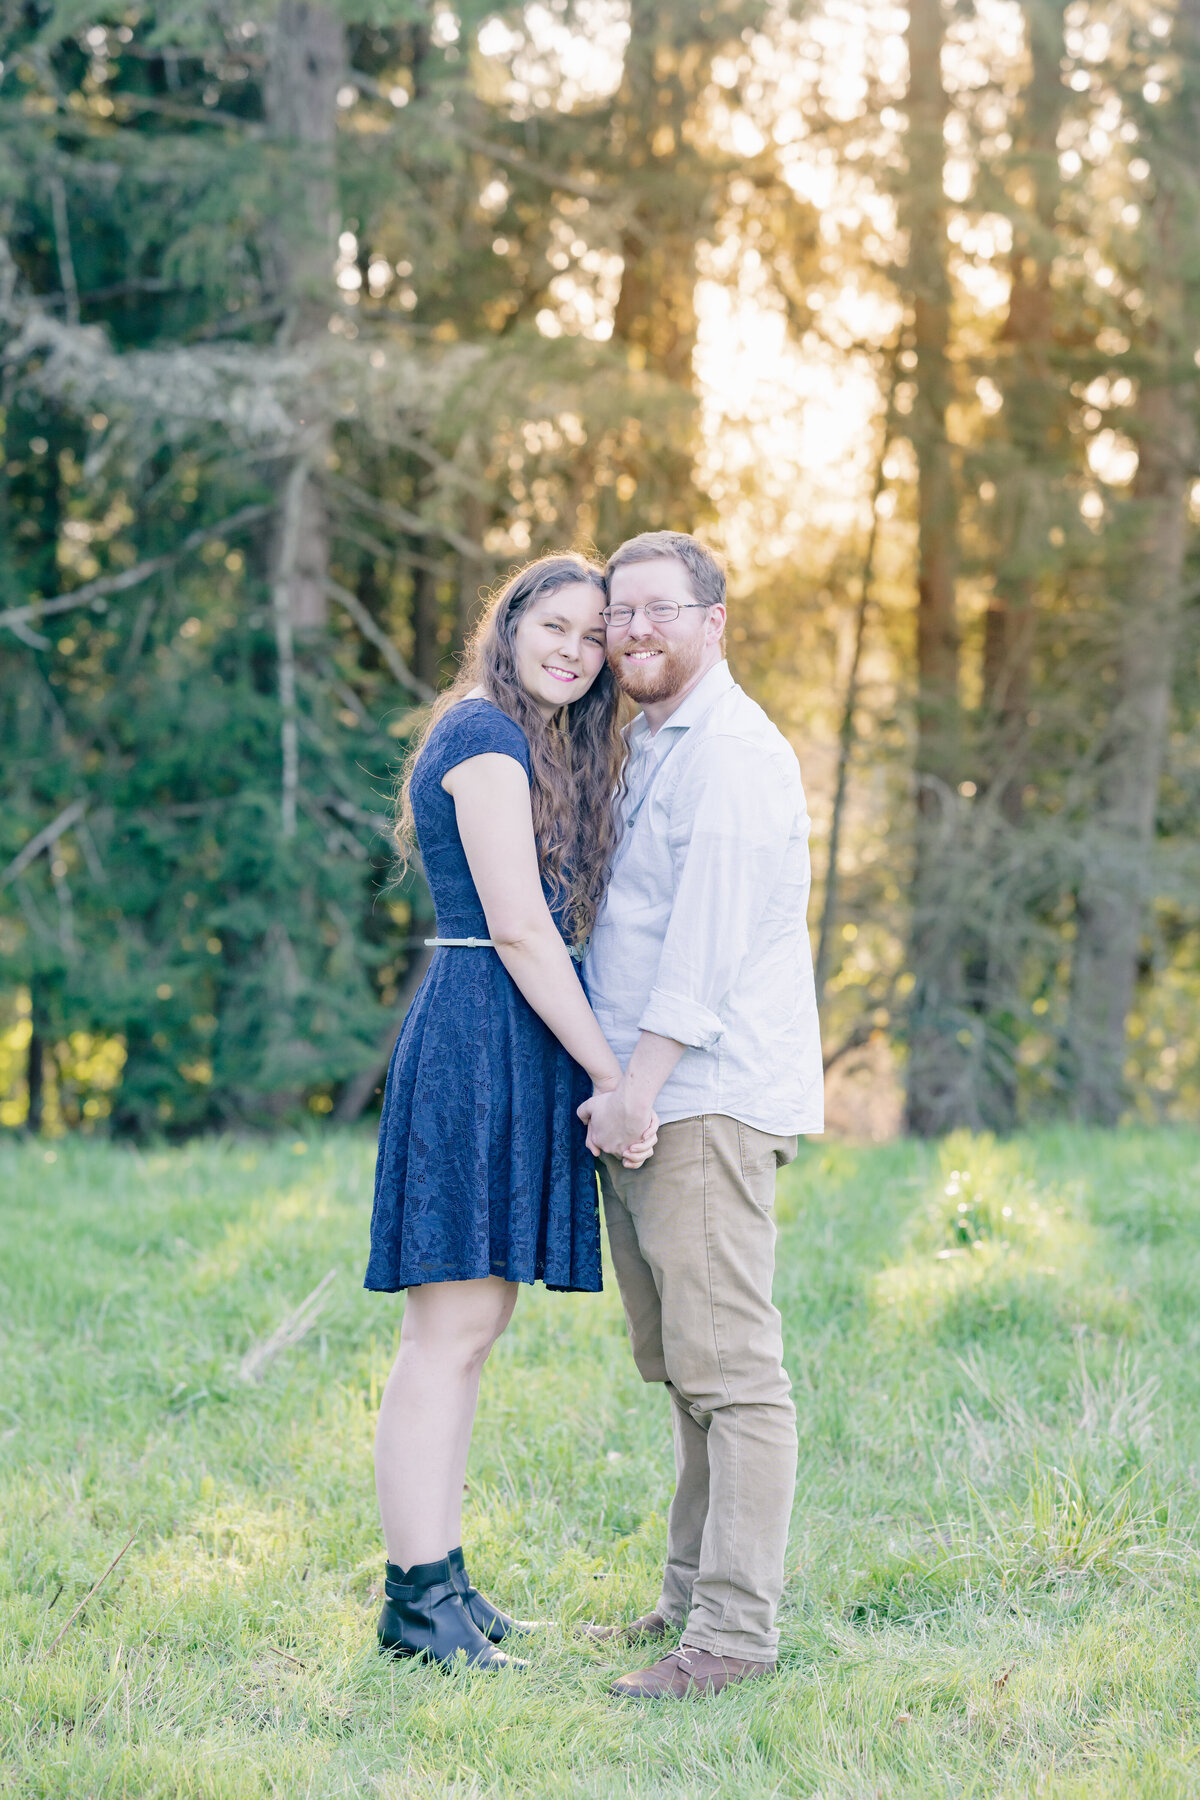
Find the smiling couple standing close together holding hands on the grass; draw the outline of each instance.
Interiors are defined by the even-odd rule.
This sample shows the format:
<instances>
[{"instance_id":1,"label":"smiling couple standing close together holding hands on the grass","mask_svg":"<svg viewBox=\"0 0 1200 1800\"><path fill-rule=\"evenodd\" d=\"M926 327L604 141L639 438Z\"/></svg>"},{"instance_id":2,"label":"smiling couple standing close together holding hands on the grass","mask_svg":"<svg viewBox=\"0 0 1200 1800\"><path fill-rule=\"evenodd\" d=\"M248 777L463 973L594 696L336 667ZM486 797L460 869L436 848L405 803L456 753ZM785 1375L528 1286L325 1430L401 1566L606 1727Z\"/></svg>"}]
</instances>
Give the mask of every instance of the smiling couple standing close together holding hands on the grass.
<instances>
[{"instance_id":1,"label":"smiling couple standing close together holding hands on the grass","mask_svg":"<svg viewBox=\"0 0 1200 1800\"><path fill-rule=\"evenodd\" d=\"M380 1645L513 1663L536 1629L462 1562L462 1483L522 1282L601 1287L596 1175L676 1487L653 1609L592 1638L662 1652L613 1694L770 1674L795 1483L772 1305L775 1170L822 1127L808 812L729 673L694 538L545 556L491 603L401 803L437 907L383 1100L365 1285L407 1289L376 1435ZM640 706L624 733L621 693Z\"/></svg>"}]
</instances>

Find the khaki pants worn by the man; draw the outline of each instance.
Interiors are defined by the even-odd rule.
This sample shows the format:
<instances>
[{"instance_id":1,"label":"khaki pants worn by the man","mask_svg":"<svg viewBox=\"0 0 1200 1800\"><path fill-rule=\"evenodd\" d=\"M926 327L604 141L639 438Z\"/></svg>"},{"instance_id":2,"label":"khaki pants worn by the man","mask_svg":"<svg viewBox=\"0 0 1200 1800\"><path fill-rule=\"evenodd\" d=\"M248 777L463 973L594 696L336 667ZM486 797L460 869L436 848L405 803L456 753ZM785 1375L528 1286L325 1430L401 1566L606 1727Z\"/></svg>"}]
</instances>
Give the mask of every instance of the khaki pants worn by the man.
<instances>
[{"instance_id":1,"label":"khaki pants worn by the man","mask_svg":"<svg viewBox=\"0 0 1200 1800\"><path fill-rule=\"evenodd\" d=\"M775 1170L797 1152L711 1112L658 1129L642 1168L601 1159L633 1361L666 1382L675 1499L657 1611L684 1642L774 1663L795 1408L772 1305Z\"/></svg>"}]
</instances>

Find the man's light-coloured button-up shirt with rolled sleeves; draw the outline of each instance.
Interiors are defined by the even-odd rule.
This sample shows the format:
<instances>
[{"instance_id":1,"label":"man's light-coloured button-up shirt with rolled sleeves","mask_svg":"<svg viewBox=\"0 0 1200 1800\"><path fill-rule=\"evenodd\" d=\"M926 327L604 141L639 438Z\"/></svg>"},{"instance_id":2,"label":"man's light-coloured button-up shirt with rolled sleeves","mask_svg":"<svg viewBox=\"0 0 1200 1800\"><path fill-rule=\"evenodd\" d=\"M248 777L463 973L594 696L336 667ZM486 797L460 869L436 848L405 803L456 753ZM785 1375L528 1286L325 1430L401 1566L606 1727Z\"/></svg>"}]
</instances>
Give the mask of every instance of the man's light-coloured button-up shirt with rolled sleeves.
<instances>
[{"instance_id":1,"label":"man's light-coloured button-up shirt with rolled sleeves","mask_svg":"<svg viewBox=\"0 0 1200 1800\"><path fill-rule=\"evenodd\" d=\"M725 1112L819 1132L820 1031L795 752L718 662L657 733L628 731L622 832L583 979L621 1062L640 1031L689 1048L658 1118Z\"/></svg>"}]
</instances>

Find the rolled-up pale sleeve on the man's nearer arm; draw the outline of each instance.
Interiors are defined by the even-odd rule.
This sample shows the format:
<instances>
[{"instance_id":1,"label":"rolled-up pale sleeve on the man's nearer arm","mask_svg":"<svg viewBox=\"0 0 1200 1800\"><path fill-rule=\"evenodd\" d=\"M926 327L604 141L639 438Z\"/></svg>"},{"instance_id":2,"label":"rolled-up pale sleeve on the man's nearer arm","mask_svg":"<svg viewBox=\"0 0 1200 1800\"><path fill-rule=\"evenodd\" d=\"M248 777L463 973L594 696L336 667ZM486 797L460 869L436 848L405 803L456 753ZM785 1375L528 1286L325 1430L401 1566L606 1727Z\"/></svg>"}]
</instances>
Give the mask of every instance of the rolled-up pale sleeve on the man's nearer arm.
<instances>
[{"instance_id":1,"label":"rolled-up pale sleeve on the man's nearer arm","mask_svg":"<svg viewBox=\"0 0 1200 1800\"><path fill-rule=\"evenodd\" d=\"M676 882L642 1031L714 1049L721 1006L770 902L797 817L783 769L739 738L712 736L671 803Z\"/></svg>"}]
</instances>

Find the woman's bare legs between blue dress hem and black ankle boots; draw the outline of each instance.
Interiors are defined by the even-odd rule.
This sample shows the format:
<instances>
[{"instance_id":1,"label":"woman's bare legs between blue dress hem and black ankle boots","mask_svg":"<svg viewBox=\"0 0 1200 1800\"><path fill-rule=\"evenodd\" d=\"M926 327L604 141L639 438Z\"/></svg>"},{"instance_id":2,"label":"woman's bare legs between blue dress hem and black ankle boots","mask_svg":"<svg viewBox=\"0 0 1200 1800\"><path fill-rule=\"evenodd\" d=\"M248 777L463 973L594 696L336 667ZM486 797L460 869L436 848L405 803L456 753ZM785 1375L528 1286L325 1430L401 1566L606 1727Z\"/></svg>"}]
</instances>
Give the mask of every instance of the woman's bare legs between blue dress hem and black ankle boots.
<instances>
[{"instance_id":1,"label":"woman's bare legs between blue dress hem and black ankle boots","mask_svg":"<svg viewBox=\"0 0 1200 1800\"><path fill-rule=\"evenodd\" d=\"M374 1435L383 1541L399 1568L437 1562L462 1543L479 1377L516 1292L516 1282L495 1274L408 1289Z\"/></svg>"}]
</instances>

